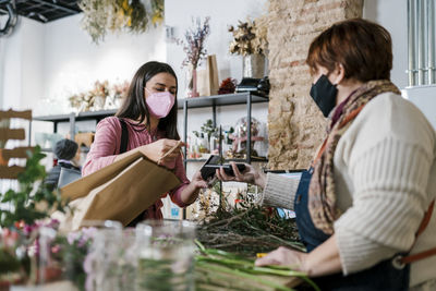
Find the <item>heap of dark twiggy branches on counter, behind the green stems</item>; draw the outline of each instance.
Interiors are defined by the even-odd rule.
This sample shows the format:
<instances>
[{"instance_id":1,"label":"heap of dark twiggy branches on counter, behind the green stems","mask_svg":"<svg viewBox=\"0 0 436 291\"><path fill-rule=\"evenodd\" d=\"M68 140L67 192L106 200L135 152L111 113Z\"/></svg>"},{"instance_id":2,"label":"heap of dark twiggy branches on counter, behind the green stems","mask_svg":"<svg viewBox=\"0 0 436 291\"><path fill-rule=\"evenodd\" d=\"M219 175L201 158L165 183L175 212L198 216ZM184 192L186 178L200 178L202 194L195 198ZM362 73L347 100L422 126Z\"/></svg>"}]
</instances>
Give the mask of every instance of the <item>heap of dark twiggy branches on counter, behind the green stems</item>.
<instances>
[{"instance_id":1,"label":"heap of dark twiggy branches on counter, behind the green stems","mask_svg":"<svg viewBox=\"0 0 436 291\"><path fill-rule=\"evenodd\" d=\"M202 202L201 206L207 207L207 210L197 229L197 239L206 247L250 256L280 245L305 250L294 219L284 219L276 209L256 205L255 186L249 185L245 193L237 195L235 207L227 203L229 193L221 191L220 183L214 185L214 191L221 203L210 205L207 202L205 205Z\"/></svg>"}]
</instances>

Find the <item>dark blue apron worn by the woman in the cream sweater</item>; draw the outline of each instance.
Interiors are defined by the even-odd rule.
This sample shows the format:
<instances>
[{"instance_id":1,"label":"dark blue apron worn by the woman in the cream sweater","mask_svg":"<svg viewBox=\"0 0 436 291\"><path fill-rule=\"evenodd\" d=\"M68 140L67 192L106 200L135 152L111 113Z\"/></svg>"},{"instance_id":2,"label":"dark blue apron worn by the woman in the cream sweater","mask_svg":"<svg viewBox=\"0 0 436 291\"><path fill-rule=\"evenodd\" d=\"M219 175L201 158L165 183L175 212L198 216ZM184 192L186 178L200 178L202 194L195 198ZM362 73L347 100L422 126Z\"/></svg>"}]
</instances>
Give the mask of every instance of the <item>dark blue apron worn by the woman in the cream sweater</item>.
<instances>
[{"instance_id":1,"label":"dark blue apron worn by the woman in the cream sweater","mask_svg":"<svg viewBox=\"0 0 436 291\"><path fill-rule=\"evenodd\" d=\"M294 210L299 234L307 252L312 252L319 244L325 242L329 235L315 228L311 214L308 213L308 184L313 169L302 173L299 189L294 201ZM396 255L397 256L397 255ZM348 276L336 274L314 278L314 281L324 290L408 290L409 289L410 265L397 268L392 259L386 259L377 265Z\"/></svg>"}]
</instances>

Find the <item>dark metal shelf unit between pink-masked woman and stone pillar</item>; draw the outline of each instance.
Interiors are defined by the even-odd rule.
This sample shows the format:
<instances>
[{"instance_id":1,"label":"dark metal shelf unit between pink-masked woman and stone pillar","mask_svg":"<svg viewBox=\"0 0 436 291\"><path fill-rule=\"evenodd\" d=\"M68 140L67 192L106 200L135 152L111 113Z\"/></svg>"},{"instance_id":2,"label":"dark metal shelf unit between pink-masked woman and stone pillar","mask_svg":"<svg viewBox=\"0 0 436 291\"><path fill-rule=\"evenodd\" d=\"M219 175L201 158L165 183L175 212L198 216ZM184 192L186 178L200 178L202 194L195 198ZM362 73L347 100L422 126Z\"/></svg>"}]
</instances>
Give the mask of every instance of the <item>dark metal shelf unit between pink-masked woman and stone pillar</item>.
<instances>
[{"instance_id":1,"label":"dark metal shelf unit between pink-masked woman and stone pillar","mask_svg":"<svg viewBox=\"0 0 436 291\"><path fill-rule=\"evenodd\" d=\"M268 102L269 98L265 96L259 96L251 92L226 94L226 95L215 95L207 97L196 97L196 98L185 98L179 100L178 107L183 108L183 141L187 141L187 109L191 108L211 108L213 109L213 124L217 126L217 107L218 106L231 106L231 105L246 105L246 120L252 120L252 105L259 102ZM247 123L249 128L246 131L246 140L251 141L251 122ZM246 143L246 159L230 159L234 161L246 161L252 162L252 148L251 143ZM186 157L186 147L184 147L184 156ZM184 159L184 166L186 168L186 162L189 161L202 161L203 159ZM266 159L262 160L266 161Z\"/></svg>"}]
</instances>

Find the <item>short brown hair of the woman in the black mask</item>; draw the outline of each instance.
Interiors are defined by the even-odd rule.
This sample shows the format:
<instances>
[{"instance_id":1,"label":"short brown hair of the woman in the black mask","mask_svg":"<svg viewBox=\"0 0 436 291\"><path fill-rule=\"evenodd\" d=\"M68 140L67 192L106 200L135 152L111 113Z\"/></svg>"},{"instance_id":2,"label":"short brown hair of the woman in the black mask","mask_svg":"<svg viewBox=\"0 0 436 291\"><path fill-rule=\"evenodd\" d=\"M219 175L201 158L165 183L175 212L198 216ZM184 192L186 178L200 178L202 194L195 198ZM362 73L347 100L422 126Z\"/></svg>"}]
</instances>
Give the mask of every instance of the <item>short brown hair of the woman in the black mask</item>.
<instances>
[{"instance_id":1,"label":"short brown hair of the woman in the black mask","mask_svg":"<svg viewBox=\"0 0 436 291\"><path fill-rule=\"evenodd\" d=\"M376 23L362 19L342 21L312 41L306 63L312 74L318 65L332 72L340 63L346 78L389 80L392 40L389 32Z\"/></svg>"}]
</instances>

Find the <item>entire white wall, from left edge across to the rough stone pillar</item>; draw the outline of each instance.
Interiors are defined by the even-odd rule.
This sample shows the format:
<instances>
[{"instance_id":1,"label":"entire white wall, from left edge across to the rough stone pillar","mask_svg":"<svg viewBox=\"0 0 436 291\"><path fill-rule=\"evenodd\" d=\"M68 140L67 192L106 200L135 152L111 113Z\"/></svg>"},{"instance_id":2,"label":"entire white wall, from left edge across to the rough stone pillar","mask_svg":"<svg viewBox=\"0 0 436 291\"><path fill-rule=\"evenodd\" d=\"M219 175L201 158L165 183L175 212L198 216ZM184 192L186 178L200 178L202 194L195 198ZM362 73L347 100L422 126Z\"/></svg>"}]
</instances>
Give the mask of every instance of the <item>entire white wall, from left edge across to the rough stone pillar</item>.
<instances>
[{"instance_id":1,"label":"entire white wall, from left edge across to the rough stone pillar","mask_svg":"<svg viewBox=\"0 0 436 291\"><path fill-rule=\"evenodd\" d=\"M192 24L192 16L210 16L211 34L206 48L218 57L220 81L228 76L240 80L242 60L240 56L228 52L232 35L227 27L238 24L239 20L266 13L266 3L267 0L225 0L219 3L167 0L166 24L175 26L175 37L182 37ZM35 116L65 113L71 110L68 97L72 94L89 89L97 80L130 80L136 69L149 60L168 61L177 71L181 81L180 92L183 92L180 66L184 52L175 44L166 43L164 27L150 28L141 35L108 35L97 46L81 28L81 19L82 14L77 14L41 24L20 17L21 24L14 34L0 39L5 72L0 74L0 84L4 84L0 89L3 108L31 108ZM183 96L179 95L179 98ZM218 123L232 125L245 113L245 108L219 108L217 113ZM266 105L255 105L253 116L266 122ZM208 118L211 118L209 109L194 110L194 114L190 112L190 124L193 124L190 131L199 130ZM181 133L182 122L180 118Z\"/></svg>"}]
</instances>

